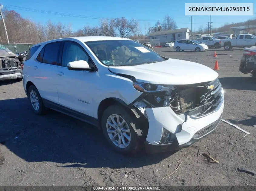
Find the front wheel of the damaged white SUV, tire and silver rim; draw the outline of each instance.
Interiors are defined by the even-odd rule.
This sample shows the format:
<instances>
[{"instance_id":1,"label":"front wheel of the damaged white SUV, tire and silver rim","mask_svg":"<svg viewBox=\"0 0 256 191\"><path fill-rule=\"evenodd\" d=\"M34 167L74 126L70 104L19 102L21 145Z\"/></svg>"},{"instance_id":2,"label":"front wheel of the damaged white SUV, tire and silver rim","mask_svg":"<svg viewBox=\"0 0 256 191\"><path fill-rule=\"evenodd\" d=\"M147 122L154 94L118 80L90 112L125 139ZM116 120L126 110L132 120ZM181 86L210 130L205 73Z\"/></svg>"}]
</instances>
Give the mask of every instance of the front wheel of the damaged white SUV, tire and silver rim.
<instances>
[{"instance_id":1,"label":"front wheel of the damaged white SUV, tire and silver rim","mask_svg":"<svg viewBox=\"0 0 256 191\"><path fill-rule=\"evenodd\" d=\"M134 130L135 126L136 118L123 107L113 105L103 112L101 119L103 134L111 147L121 154L135 154L141 148Z\"/></svg>"}]
</instances>

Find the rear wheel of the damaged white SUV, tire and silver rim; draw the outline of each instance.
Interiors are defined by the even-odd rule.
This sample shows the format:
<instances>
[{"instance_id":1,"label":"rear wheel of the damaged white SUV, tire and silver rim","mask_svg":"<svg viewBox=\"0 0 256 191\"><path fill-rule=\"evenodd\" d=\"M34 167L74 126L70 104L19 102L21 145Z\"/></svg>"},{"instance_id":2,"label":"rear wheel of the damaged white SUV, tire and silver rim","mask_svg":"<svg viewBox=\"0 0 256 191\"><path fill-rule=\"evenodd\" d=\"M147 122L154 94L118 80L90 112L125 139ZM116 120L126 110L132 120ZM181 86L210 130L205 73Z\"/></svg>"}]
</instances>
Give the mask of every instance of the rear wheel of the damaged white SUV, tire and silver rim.
<instances>
[{"instance_id":1,"label":"rear wheel of the damaged white SUV, tire and silver rim","mask_svg":"<svg viewBox=\"0 0 256 191\"><path fill-rule=\"evenodd\" d=\"M46 108L43 104L42 97L40 96L37 88L34 85L31 85L28 88L28 99L30 100L32 110L35 114L45 114Z\"/></svg>"}]
</instances>

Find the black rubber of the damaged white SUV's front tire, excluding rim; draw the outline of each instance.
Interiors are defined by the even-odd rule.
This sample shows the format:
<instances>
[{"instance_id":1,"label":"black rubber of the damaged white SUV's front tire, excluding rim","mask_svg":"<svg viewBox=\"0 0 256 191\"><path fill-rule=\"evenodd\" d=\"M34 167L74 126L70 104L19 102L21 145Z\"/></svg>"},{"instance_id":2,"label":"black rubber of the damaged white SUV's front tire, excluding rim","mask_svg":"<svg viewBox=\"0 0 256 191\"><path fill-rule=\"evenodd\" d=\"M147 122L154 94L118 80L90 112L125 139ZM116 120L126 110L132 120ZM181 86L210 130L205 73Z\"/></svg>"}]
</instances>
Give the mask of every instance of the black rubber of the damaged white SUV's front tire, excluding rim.
<instances>
[{"instance_id":1,"label":"black rubber of the damaged white SUV's front tire, excluding rim","mask_svg":"<svg viewBox=\"0 0 256 191\"><path fill-rule=\"evenodd\" d=\"M117 115L121 116L125 120L125 122L127 123L128 127L129 127L131 140L130 140L129 145L125 148L120 148L120 147L116 146L111 141L110 137L108 136L107 120L108 120L108 117L113 114L117 114ZM124 155L135 154L142 148L141 145L143 145L143 143L139 140L137 132L135 132L136 125L138 125L136 117L132 116L121 106L116 106L116 105L109 106L102 114L101 127L102 127L102 131L103 131L105 138L107 139L107 141L111 145L111 147L115 149L115 151L117 151L121 154L124 154Z\"/></svg>"}]
</instances>

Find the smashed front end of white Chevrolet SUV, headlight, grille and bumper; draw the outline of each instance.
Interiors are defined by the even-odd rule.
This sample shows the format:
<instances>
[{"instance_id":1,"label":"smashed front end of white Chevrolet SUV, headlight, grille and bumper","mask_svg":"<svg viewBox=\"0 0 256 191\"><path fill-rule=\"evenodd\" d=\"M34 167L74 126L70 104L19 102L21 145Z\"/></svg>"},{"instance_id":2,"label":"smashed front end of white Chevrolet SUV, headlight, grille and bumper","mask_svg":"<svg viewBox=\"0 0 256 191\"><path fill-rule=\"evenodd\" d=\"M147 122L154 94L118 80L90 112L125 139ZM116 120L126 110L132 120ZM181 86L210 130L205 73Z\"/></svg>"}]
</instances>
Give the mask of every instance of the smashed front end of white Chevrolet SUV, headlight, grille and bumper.
<instances>
[{"instance_id":1,"label":"smashed front end of white Chevrolet SUV, headlight, grille and bumper","mask_svg":"<svg viewBox=\"0 0 256 191\"><path fill-rule=\"evenodd\" d=\"M131 104L148 119L146 141L149 144L172 144L169 150L175 150L179 145L188 144L195 135L199 134L195 138L198 139L208 134L219 123L224 96L218 78L188 85L134 82L134 88L143 92ZM219 113L207 119L206 116L216 111Z\"/></svg>"}]
</instances>

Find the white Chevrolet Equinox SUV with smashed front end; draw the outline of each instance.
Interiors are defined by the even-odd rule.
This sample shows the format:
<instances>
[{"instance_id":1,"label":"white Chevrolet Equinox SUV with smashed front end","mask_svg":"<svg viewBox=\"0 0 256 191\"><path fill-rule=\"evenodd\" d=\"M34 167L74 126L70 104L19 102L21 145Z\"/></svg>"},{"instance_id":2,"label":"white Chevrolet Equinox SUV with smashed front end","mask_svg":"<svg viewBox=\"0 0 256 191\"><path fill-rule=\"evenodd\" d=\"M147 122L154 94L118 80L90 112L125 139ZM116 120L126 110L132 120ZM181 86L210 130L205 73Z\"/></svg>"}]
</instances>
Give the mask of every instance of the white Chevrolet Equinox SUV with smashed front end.
<instances>
[{"instance_id":1,"label":"white Chevrolet Equinox SUV with smashed front end","mask_svg":"<svg viewBox=\"0 0 256 191\"><path fill-rule=\"evenodd\" d=\"M33 111L47 108L102 129L118 152L188 147L213 132L224 107L218 73L118 37L39 43L23 67Z\"/></svg>"}]
</instances>

